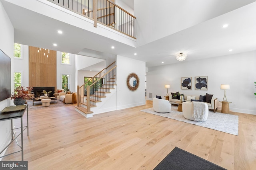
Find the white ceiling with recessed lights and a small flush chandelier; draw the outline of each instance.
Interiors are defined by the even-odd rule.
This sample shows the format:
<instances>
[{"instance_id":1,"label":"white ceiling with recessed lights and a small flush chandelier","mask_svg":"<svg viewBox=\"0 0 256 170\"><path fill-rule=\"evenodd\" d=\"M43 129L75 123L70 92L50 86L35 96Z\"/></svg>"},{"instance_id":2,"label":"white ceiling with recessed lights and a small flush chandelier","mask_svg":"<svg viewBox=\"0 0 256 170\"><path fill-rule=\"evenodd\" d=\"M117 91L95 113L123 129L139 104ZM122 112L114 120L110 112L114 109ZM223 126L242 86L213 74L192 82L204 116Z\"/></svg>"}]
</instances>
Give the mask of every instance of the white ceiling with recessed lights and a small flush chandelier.
<instances>
[{"instance_id":1,"label":"white ceiling with recessed lights and a small flush chandelier","mask_svg":"<svg viewBox=\"0 0 256 170\"><path fill-rule=\"evenodd\" d=\"M56 51L81 54L84 49L90 49L145 61L146 66L151 67L161 65L162 61L164 64L178 63L175 53L180 49L188 52L187 59L182 62L256 50L256 2L136 48L6 0L1 2L14 26L14 42ZM229 26L222 28L223 23ZM63 36L52 31L60 28L64 31ZM58 42L58 47L52 47L53 42ZM114 50L110 48L112 45Z\"/></svg>"}]
</instances>

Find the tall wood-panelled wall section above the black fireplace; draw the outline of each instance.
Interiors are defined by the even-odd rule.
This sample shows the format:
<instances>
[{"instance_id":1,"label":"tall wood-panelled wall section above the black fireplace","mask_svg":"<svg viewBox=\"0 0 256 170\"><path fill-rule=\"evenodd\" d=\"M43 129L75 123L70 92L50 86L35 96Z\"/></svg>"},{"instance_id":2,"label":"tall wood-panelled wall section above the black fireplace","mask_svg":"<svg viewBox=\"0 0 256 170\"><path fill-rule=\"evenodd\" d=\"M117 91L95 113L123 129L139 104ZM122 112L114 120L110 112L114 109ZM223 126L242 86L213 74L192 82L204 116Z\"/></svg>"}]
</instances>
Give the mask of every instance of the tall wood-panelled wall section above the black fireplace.
<instances>
[{"instance_id":1,"label":"tall wood-panelled wall section above the black fireplace","mask_svg":"<svg viewBox=\"0 0 256 170\"><path fill-rule=\"evenodd\" d=\"M29 86L55 87L56 90L56 51L50 50L48 54L48 49L41 48L38 53L38 49L29 46Z\"/></svg>"}]
</instances>

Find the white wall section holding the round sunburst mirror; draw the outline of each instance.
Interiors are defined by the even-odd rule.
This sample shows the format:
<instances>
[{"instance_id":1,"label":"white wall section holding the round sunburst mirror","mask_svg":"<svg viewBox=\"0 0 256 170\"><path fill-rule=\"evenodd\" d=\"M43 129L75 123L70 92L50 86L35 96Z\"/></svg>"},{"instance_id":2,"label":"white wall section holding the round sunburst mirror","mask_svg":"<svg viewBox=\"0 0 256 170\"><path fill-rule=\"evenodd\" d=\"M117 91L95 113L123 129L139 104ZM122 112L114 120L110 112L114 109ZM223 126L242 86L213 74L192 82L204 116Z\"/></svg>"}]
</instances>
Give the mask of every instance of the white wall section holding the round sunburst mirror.
<instances>
[{"instance_id":1,"label":"white wall section holding the round sunburst mirror","mask_svg":"<svg viewBox=\"0 0 256 170\"><path fill-rule=\"evenodd\" d=\"M146 63L118 55L116 57L116 101L117 110L146 104L145 72ZM140 85L136 91L130 91L126 86L126 78L130 73L136 73Z\"/></svg>"}]
</instances>

